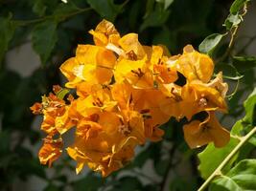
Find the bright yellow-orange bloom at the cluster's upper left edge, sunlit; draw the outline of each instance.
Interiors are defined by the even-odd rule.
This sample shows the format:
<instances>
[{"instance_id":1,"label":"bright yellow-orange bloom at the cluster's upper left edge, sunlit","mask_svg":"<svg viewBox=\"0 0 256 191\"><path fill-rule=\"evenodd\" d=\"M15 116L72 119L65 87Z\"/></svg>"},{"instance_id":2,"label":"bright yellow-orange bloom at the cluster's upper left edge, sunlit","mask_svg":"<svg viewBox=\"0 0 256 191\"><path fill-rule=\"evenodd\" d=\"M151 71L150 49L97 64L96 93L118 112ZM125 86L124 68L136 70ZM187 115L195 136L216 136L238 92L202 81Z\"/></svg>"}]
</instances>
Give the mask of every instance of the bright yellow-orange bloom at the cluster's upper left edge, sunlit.
<instances>
[{"instance_id":1,"label":"bright yellow-orange bloom at the cluster's upper left edge, sunlit","mask_svg":"<svg viewBox=\"0 0 256 191\"><path fill-rule=\"evenodd\" d=\"M114 53L103 47L79 45L76 57L65 61L60 71L69 80L68 88L75 88L82 81L105 84L111 80L115 61Z\"/></svg>"}]
</instances>

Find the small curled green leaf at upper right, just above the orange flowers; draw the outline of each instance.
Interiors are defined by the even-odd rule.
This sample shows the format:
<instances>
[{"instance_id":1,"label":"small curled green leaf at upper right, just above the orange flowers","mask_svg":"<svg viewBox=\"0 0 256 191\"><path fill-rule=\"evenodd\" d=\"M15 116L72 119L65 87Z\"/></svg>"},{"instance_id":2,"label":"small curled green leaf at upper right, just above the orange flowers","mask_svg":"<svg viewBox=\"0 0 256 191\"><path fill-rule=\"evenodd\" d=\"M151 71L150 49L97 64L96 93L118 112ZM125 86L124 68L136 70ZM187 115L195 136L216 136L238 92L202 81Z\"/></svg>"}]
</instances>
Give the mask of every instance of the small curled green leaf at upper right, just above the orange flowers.
<instances>
[{"instance_id":1,"label":"small curled green leaf at upper right, just above the orange flowers","mask_svg":"<svg viewBox=\"0 0 256 191\"><path fill-rule=\"evenodd\" d=\"M199 45L199 52L201 53L213 53L216 47L220 44L222 37L225 34L213 33L207 36Z\"/></svg>"}]
</instances>

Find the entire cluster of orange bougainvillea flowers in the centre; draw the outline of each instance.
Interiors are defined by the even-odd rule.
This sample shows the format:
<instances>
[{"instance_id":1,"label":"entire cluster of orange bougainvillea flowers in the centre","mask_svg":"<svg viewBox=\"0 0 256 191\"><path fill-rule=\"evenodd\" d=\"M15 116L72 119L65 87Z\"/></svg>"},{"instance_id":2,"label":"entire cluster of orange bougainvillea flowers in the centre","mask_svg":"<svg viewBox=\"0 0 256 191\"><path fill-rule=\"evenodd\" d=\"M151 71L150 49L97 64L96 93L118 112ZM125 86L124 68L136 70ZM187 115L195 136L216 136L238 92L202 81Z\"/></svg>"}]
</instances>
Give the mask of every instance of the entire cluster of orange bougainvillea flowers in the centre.
<instances>
[{"instance_id":1,"label":"entire cluster of orange bougainvillea flowers in the centre","mask_svg":"<svg viewBox=\"0 0 256 191\"><path fill-rule=\"evenodd\" d=\"M79 45L76 56L60 71L76 90L63 98L63 90L43 96L31 107L43 114L41 129L48 135L39 151L43 164L61 154L61 136L75 127L75 140L66 148L77 163L103 176L120 169L133 158L134 148L147 139L160 140L159 127L171 117L186 117L184 138L191 148L214 142L221 147L229 133L215 111L226 111L227 84L221 73L212 78L212 59L191 45L182 54L170 55L164 46L144 46L136 33L120 36L112 23L103 20L90 31L95 45ZM206 117L197 119L195 115Z\"/></svg>"}]
</instances>

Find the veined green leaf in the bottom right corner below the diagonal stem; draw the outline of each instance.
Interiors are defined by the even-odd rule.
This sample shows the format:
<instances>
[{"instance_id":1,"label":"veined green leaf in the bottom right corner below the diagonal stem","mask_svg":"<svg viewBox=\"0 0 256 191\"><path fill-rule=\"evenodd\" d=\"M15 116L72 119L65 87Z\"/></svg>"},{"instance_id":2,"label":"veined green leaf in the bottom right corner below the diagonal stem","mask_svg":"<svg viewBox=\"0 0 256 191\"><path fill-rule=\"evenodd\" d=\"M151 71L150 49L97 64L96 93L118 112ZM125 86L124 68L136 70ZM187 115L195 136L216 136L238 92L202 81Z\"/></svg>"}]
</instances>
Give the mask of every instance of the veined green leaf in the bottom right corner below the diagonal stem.
<instances>
[{"instance_id":1,"label":"veined green leaf in the bottom right corner below the diagonal stem","mask_svg":"<svg viewBox=\"0 0 256 191\"><path fill-rule=\"evenodd\" d=\"M256 190L256 159L244 159L226 175L214 180L210 191Z\"/></svg>"}]
</instances>

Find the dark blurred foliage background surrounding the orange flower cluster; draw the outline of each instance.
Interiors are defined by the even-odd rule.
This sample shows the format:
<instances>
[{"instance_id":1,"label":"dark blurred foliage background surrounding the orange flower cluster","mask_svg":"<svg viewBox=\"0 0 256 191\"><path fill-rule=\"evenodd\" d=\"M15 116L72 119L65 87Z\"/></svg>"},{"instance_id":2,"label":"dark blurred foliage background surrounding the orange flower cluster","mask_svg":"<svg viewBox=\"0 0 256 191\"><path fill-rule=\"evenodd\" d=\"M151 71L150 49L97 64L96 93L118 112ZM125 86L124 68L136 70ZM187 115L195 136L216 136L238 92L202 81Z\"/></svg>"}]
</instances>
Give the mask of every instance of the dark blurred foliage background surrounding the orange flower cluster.
<instances>
[{"instance_id":1,"label":"dark blurred foliage background surrounding the orange flower cluster","mask_svg":"<svg viewBox=\"0 0 256 191\"><path fill-rule=\"evenodd\" d=\"M197 190L203 181L197 169L200 149L188 148L182 125L174 119L163 126L162 141L138 148L126 168L102 179L87 169L77 176L76 163L65 151L52 168L40 165L42 118L33 116L29 107L52 85L65 83L58 67L75 54L78 44L93 43L88 31L103 18L121 34L136 32L142 44L164 44L175 54L187 44L198 50L207 35L225 32L222 24L231 4L231 0L0 0L0 190ZM247 11L231 53L256 56L255 1ZM221 43L214 58L228 42ZM255 71L244 72L239 90L228 100L229 114L221 117L227 128L243 115L243 99L255 81ZM237 82L228 82L231 94ZM72 141L70 135L66 140Z\"/></svg>"}]
</instances>

